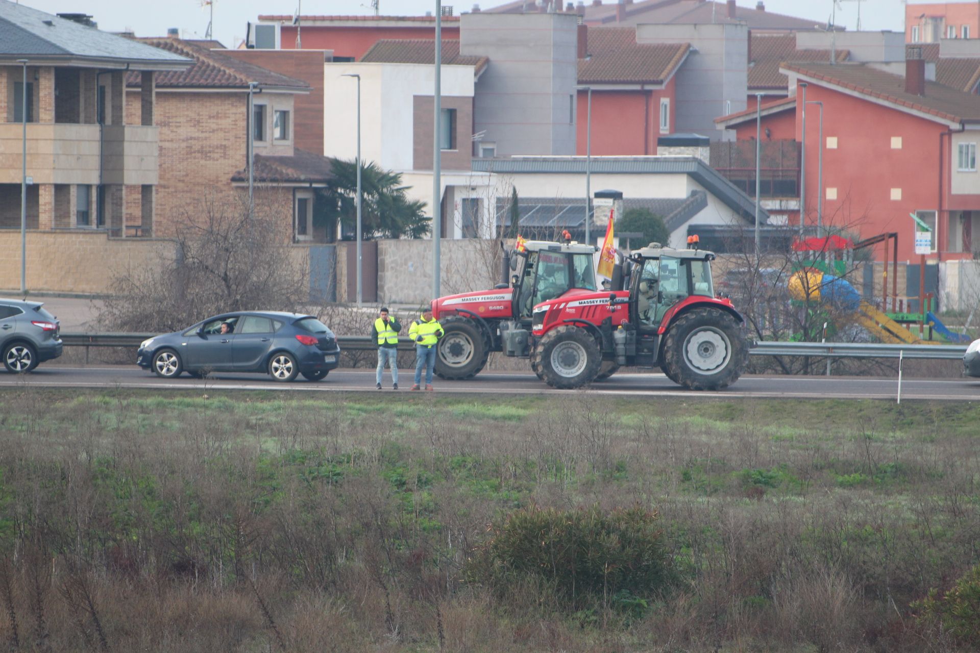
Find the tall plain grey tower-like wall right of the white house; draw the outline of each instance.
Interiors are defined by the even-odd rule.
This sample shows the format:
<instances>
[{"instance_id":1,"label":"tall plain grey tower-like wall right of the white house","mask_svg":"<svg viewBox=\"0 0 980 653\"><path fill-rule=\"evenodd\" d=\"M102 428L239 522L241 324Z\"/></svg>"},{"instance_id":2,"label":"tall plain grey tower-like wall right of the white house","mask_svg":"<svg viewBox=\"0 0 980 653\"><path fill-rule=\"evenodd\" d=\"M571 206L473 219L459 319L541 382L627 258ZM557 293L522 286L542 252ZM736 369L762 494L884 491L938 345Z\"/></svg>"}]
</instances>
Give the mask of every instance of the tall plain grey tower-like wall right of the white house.
<instances>
[{"instance_id":1,"label":"tall plain grey tower-like wall right of the white house","mask_svg":"<svg viewBox=\"0 0 980 653\"><path fill-rule=\"evenodd\" d=\"M461 54L490 58L476 84L473 131L486 132L498 157L574 154L576 17L476 13L460 24Z\"/></svg>"}]
</instances>

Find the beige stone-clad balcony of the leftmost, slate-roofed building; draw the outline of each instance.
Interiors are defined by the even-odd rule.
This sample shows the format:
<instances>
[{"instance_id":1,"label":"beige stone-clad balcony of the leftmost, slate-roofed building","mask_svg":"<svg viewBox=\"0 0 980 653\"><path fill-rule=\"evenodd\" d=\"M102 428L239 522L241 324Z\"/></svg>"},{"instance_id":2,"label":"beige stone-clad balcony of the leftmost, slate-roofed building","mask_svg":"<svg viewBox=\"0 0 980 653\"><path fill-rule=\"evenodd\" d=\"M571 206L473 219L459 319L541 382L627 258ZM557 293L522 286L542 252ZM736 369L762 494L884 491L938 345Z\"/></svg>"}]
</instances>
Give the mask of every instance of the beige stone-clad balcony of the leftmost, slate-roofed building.
<instances>
[{"instance_id":1,"label":"beige stone-clad balcony of the leftmost, slate-roofed building","mask_svg":"<svg viewBox=\"0 0 980 653\"><path fill-rule=\"evenodd\" d=\"M102 183L156 184L159 127L104 125ZM0 184L21 183L23 124L0 123ZM98 184L98 124L27 123L27 176L35 184Z\"/></svg>"}]
</instances>

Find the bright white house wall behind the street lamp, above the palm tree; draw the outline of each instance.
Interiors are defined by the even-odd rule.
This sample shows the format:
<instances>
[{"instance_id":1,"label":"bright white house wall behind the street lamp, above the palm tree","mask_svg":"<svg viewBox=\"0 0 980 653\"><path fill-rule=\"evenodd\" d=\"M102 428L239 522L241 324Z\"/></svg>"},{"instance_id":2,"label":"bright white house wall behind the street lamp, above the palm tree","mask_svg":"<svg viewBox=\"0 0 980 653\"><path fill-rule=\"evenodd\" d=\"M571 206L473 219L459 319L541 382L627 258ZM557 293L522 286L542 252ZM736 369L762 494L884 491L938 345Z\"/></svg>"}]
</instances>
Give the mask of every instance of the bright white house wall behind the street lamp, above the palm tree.
<instances>
[{"instance_id":1,"label":"bright white house wall behind the street lamp, above the palm tree","mask_svg":"<svg viewBox=\"0 0 980 653\"><path fill-rule=\"evenodd\" d=\"M362 159L390 170L414 169L414 98L432 96L434 72L416 64L324 64L323 152L348 160L357 156L357 80L341 76L357 73ZM471 98L473 67L443 66L440 82L443 95Z\"/></svg>"}]
</instances>

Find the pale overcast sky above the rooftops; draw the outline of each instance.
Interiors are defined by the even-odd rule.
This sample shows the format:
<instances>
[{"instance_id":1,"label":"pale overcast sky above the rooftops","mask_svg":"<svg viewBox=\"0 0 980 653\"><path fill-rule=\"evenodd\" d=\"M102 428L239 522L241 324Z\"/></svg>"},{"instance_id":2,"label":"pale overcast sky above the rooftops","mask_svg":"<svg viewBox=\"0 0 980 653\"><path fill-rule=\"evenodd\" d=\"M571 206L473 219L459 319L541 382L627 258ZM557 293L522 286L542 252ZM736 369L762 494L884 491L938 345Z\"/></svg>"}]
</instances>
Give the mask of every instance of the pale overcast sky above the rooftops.
<instances>
[{"instance_id":1,"label":"pale overcast sky above the rooftops","mask_svg":"<svg viewBox=\"0 0 980 653\"><path fill-rule=\"evenodd\" d=\"M164 36L168 27L177 27L181 35L203 36L208 26L208 9L204 0L21 0L27 6L57 14L84 12L91 14L99 27L108 31L135 31L137 36ZM469 11L474 0L443 0L456 13ZM607 3L613 0L605 0ZM928 1L928 0L926 0ZM503 4L505 0L481 0L482 7ZM918 0L922 2L922 0ZM225 46L234 47L245 36L245 23L260 14L294 14L302 3L303 14L370 14L369 0L215 0L214 35ZM434 0L380 0L385 15L418 16L431 11ZM739 6L755 7L756 0L738 0ZM862 29L905 28L905 6L902 0L860 0ZM765 0L766 11L812 19L826 23L832 0ZM858 22L858 0L841 0L836 23L854 29Z\"/></svg>"}]
</instances>

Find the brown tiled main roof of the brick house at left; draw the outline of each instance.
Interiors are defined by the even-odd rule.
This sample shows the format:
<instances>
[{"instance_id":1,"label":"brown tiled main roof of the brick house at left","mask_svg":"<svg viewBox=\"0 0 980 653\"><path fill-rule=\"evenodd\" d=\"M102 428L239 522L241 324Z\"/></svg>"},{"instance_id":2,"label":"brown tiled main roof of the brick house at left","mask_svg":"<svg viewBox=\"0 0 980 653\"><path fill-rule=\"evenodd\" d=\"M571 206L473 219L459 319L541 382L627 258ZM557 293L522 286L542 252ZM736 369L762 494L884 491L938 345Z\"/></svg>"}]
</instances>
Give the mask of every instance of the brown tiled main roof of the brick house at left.
<instances>
[{"instance_id":1,"label":"brown tiled main roof of the brick house at left","mask_svg":"<svg viewBox=\"0 0 980 653\"><path fill-rule=\"evenodd\" d=\"M194 61L194 65L186 70L157 72L158 88L248 88L250 81L266 86L310 88L310 84L300 79L247 64L189 41L181 41L177 38L136 40ZM129 72L126 74L126 85L139 86L139 79L139 72Z\"/></svg>"}]
</instances>

